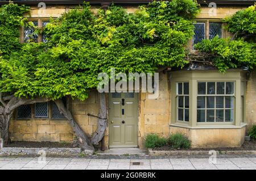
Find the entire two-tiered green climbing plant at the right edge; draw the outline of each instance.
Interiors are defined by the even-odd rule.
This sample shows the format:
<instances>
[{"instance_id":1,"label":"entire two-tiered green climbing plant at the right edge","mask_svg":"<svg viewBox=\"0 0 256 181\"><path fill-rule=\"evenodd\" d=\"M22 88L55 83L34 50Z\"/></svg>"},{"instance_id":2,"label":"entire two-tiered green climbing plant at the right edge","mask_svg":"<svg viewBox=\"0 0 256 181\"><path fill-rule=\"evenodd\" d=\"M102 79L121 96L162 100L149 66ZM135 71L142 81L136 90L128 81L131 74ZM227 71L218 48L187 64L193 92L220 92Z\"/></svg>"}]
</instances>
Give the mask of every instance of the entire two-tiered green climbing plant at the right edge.
<instances>
[{"instance_id":1,"label":"entire two-tiered green climbing plant at the right edge","mask_svg":"<svg viewBox=\"0 0 256 181\"><path fill-rule=\"evenodd\" d=\"M199 52L207 53L210 61L220 71L230 68L246 67L253 70L256 65L256 5L223 19L227 30L233 33L229 39L217 36L212 40L203 40L195 47Z\"/></svg>"}]
</instances>

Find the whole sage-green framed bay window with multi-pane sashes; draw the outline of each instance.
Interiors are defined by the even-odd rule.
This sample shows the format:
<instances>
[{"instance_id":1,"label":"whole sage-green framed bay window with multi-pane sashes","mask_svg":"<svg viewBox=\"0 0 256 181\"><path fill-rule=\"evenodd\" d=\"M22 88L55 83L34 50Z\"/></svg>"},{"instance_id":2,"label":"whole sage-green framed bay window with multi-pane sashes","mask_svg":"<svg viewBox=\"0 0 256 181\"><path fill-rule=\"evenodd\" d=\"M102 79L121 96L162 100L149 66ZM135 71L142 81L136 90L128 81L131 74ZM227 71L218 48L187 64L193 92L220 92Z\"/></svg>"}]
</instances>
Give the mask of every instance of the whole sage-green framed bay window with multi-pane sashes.
<instances>
[{"instance_id":1,"label":"whole sage-green framed bay window with multi-pane sashes","mask_svg":"<svg viewBox=\"0 0 256 181\"><path fill-rule=\"evenodd\" d=\"M245 124L246 72L171 71L171 125L191 128Z\"/></svg>"}]
</instances>

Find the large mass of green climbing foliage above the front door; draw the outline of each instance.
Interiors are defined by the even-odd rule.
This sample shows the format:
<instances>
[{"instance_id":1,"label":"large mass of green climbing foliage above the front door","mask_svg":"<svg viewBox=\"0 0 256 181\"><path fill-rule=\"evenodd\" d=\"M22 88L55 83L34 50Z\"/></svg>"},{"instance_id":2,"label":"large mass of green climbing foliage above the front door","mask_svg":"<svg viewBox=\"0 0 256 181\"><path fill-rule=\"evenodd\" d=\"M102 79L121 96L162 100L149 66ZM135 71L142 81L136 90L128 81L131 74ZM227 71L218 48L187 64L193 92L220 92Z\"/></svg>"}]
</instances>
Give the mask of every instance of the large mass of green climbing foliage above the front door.
<instances>
[{"instance_id":1,"label":"large mass of green climbing foliage above the front door","mask_svg":"<svg viewBox=\"0 0 256 181\"><path fill-rule=\"evenodd\" d=\"M152 73L159 66L188 64L185 45L193 35L192 18L199 6L192 0L175 0L149 3L134 14L114 5L93 14L84 3L36 30L47 35L47 43L19 44L19 26L26 22L22 14L27 11L13 3L1 10L1 28L13 31L0 37L1 52L7 55L0 57L1 92L84 100L88 90L97 87L98 73L109 74L110 68Z\"/></svg>"}]
</instances>

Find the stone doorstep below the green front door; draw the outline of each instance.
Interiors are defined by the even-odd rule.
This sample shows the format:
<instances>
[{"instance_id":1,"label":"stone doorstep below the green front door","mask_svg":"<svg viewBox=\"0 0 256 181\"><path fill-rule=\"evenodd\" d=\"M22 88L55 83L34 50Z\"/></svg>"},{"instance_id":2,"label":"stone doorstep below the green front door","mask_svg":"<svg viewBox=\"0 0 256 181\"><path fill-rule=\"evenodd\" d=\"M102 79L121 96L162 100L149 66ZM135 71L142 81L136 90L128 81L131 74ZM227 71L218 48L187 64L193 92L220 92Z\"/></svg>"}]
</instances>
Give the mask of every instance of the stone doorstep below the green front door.
<instances>
[{"instance_id":1,"label":"stone doorstep below the green front door","mask_svg":"<svg viewBox=\"0 0 256 181\"><path fill-rule=\"evenodd\" d=\"M139 148L110 148L105 151L97 151L98 155L147 155L146 150Z\"/></svg>"}]
</instances>

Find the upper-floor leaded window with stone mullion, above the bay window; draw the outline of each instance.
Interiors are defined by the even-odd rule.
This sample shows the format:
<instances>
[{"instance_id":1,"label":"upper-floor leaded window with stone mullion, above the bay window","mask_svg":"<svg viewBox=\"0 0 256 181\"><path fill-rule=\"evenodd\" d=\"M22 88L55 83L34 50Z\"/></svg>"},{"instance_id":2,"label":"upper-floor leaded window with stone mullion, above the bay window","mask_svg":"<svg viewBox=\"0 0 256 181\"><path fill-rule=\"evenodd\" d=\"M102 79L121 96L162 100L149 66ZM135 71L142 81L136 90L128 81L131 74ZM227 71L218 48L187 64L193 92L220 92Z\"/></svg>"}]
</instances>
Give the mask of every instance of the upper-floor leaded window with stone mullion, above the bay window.
<instances>
[{"instance_id":1,"label":"upper-floor leaded window with stone mullion, above the bay window","mask_svg":"<svg viewBox=\"0 0 256 181\"><path fill-rule=\"evenodd\" d=\"M204 39L213 39L216 35L222 37L222 23L219 22L197 22L194 23L194 36L192 46Z\"/></svg>"}]
</instances>

